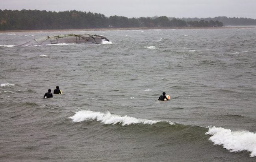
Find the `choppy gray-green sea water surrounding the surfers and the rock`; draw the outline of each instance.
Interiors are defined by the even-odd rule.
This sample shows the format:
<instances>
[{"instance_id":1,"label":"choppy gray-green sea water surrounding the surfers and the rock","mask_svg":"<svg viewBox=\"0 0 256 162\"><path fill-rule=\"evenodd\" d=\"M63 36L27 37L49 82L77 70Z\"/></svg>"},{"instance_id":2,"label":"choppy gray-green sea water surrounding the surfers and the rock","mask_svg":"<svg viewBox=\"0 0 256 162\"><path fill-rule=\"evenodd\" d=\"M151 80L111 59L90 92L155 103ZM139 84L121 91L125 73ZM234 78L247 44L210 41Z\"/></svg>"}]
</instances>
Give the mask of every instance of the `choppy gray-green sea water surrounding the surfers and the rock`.
<instances>
[{"instance_id":1,"label":"choppy gray-green sea water surrounding the surfers and the rock","mask_svg":"<svg viewBox=\"0 0 256 162\"><path fill-rule=\"evenodd\" d=\"M67 33L111 43L15 46ZM253 162L255 43L256 28L0 33L0 161Z\"/></svg>"}]
</instances>

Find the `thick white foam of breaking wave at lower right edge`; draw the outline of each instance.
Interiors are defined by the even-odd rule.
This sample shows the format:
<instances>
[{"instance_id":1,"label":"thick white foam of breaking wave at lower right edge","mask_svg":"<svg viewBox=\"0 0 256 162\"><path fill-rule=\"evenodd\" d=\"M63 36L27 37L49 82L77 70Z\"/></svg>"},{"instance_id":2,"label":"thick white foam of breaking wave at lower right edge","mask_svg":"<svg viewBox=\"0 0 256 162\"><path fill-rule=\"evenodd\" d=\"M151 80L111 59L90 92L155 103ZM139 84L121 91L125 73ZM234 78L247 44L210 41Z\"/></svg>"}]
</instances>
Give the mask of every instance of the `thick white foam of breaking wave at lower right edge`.
<instances>
[{"instance_id":1,"label":"thick white foam of breaking wave at lower right edge","mask_svg":"<svg viewBox=\"0 0 256 162\"><path fill-rule=\"evenodd\" d=\"M256 157L256 133L249 131L231 131L222 127L209 127L206 135L215 145L223 145L230 152L249 151L250 157Z\"/></svg>"}]
</instances>

